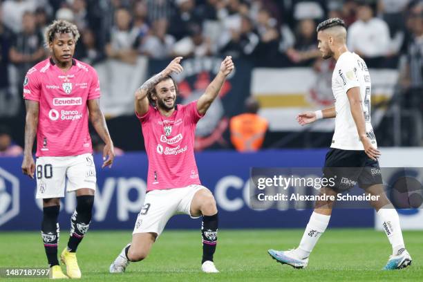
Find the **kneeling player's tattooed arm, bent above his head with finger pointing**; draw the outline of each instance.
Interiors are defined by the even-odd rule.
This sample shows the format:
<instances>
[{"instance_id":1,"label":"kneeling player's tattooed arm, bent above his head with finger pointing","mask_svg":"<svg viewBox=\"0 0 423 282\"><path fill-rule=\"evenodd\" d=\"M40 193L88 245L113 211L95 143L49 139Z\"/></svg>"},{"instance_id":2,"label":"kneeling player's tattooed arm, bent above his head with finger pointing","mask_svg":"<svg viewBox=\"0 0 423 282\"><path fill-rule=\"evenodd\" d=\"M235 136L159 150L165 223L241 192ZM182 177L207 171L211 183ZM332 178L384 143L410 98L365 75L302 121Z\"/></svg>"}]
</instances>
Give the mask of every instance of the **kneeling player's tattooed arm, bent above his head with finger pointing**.
<instances>
[{"instance_id":1,"label":"kneeling player's tattooed arm, bent above his head with finger pointing","mask_svg":"<svg viewBox=\"0 0 423 282\"><path fill-rule=\"evenodd\" d=\"M181 60L182 57L176 57L173 59L163 71L148 79L147 82L144 82L144 84L135 91L135 111L138 115L144 115L147 111L149 111L149 100L147 99L147 94L154 86L156 86L156 84L158 84L160 79L171 75L171 73L182 73L184 69L180 65Z\"/></svg>"}]
</instances>

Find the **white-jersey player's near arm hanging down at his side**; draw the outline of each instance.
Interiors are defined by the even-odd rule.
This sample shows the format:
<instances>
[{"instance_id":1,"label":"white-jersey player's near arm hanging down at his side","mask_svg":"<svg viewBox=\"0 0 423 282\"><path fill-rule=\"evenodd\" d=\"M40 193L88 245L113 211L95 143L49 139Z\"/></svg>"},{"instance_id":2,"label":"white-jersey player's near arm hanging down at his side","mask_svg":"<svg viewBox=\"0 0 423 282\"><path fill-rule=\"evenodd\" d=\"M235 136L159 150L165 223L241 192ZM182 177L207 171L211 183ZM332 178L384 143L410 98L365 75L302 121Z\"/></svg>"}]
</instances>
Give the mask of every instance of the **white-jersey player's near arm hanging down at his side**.
<instances>
[{"instance_id":1,"label":"white-jersey player's near arm hanging down at his side","mask_svg":"<svg viewBox=\"0 0 423 282\"><path fill-rule=\"evenodd\" d=\"M380 152L375 147L373 147L366 133L366 122L364 121L364 112L363 108L361 107L362 101L360 88L353 87L348 89L347 96L350 102L351 114L353 115L355 126L357 126L360 141L363 143L364 151L369 158L376 160L376 158L380 156Z\"/></svg>"}]
</instances>

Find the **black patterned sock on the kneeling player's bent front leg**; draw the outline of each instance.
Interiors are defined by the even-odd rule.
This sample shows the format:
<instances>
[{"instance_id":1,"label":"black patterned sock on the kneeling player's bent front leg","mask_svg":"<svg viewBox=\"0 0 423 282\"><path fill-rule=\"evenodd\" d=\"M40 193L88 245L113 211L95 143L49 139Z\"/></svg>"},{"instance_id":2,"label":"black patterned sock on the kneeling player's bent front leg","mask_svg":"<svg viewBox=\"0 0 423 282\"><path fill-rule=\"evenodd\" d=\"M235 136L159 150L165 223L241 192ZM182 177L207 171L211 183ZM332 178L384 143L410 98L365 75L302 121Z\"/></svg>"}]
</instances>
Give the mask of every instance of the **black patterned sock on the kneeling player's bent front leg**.
<instances>
[{"instance_id":1,"label":"black patterned sock on the kneeling player's bent front leg","mask_svg":"<svg viewBox=\"0 0 423 282\"><path fill-rule=\"evenodd\" d=\"M203 260L213 261L213 254L216 251L218 232L218 214L213 216L203 216L201 223L201 235L203 236Z\"/></svg>"}]
</instances>

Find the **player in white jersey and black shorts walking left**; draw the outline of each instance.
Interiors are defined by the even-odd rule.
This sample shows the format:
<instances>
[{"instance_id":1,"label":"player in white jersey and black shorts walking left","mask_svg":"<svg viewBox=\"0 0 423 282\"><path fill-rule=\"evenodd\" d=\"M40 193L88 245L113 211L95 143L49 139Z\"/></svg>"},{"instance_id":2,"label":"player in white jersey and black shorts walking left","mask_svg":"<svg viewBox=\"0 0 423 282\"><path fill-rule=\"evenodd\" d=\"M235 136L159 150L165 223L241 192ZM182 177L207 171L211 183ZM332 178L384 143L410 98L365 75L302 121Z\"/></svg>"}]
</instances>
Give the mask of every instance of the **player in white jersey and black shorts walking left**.
<instances>
[{"instance_id":1,"label":"player in white jersey and black shorts walking left","mask_svg":"<svg viewBox=\"0 0 423 282\"><path fill-rule=\"evenodd\" d=\"M366 193L380 198L370 202L393 248L384 270L401 269L411 265L411 256L406 251L397 211L386 198L382 187L375 134L370 124L370 75L366 63L346 47L346 28L342 19L327 19L317 27L318 48L323 59L333 57L337 64L332 75L332 92L335 106L322 111L300 113L299 124L305 125L321 118L335 118L335 133L330 150L326 154L323 174L346 173L348 179L358 180ZM348 168L339 169L339 168ZM337 169L338 168L338 169ZM353 171L353 172L351 172ZM339 176L339 175L338 175ZM341 179L341 176L338 177ZM333 188L324 187L321 193L336 195L344 183L337 182ZM343 187L344 189L349 189ZM314 212L301 238L299 247L289 251L269 250L270 256L279 263L296 268L307 266L308 256L319 237L328 226L333 201L317 201Z\"/></svg>"}]
</instances>

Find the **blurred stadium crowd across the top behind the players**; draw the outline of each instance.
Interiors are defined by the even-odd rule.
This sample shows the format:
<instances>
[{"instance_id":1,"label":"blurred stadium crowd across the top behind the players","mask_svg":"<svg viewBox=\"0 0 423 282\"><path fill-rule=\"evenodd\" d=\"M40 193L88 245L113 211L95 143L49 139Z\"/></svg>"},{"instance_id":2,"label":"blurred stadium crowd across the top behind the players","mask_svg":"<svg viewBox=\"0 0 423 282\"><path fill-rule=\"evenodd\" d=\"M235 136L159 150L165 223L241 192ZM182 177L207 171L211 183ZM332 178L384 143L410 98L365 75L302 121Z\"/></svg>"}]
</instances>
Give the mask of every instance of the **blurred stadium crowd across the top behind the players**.
<instances>
[{"instance_id":1,"label":"blurred stadium crowd across the top behind the players","mask_svg":"<svg viewBox=\"0 0 423 282\"><path fill-rule=\"evenodd\" d=\"M398 68L398 83L410 97L403 106L423 109L422 0L6 0L0 12L0 118L24 111L21 101L19 113L5 103L10 83L22 82L48 55L43 33L53 19L76 24L82 36L75 57L88 64L108 58L134 64L139 55L232 55L254 66L317 67L316 26L328 17L346 21L348 48L369 67Z\"/></svg>"}]
</instances>

